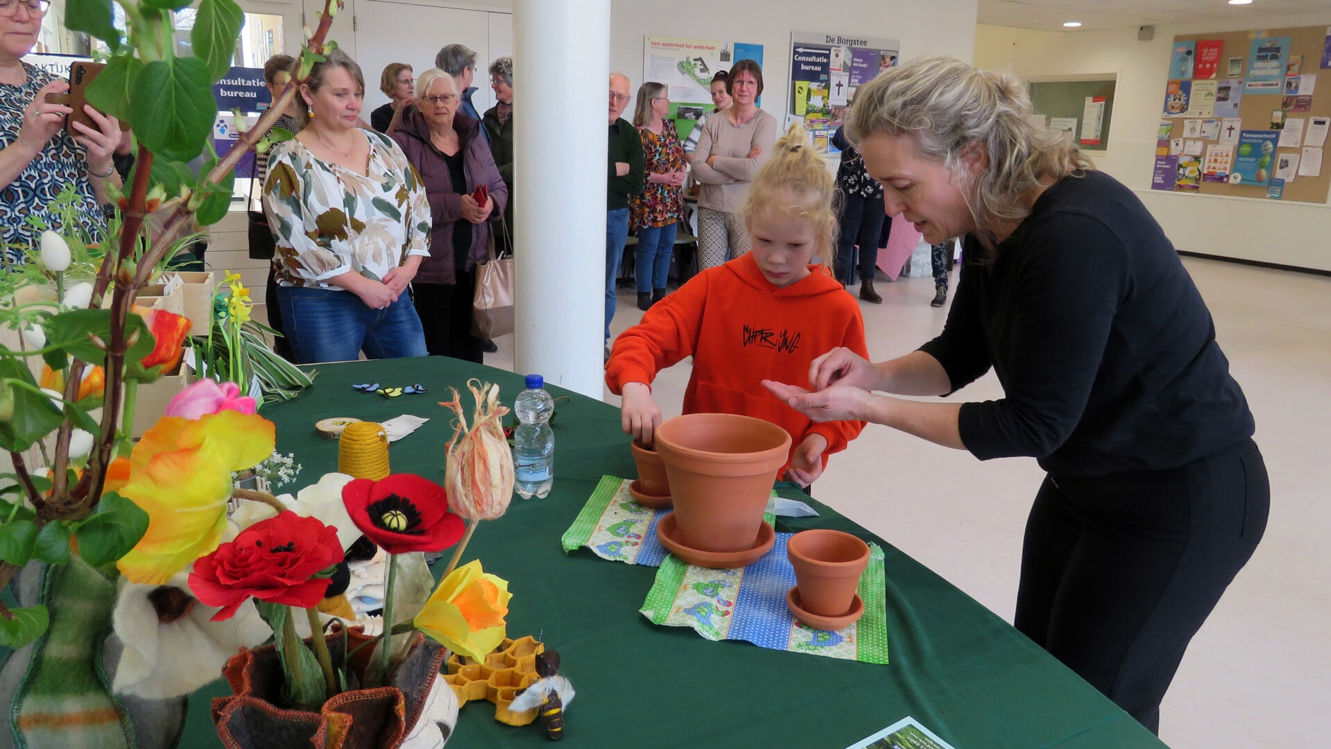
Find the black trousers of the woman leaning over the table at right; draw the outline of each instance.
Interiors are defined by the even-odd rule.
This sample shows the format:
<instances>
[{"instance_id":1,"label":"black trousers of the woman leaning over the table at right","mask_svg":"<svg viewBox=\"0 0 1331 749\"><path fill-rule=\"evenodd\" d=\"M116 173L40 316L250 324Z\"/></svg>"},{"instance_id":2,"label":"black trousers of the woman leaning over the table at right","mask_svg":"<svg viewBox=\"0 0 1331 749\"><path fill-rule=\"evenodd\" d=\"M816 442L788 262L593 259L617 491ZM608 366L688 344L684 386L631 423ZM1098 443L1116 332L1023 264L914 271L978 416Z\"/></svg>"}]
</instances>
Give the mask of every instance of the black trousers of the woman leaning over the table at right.
<instances>
[{"instance_id":1,"label":"black trousers of the woman leaning over the table at right","mask_svg":"<svg viewBox=\"0 0 1331 749\"><path fill-rule=\"evenodd\" d=\"M1047 476L1016 627L1154 733L1189 641L1266 531L1256 444L1181 468Z\"/></svg>"}]
</instances>

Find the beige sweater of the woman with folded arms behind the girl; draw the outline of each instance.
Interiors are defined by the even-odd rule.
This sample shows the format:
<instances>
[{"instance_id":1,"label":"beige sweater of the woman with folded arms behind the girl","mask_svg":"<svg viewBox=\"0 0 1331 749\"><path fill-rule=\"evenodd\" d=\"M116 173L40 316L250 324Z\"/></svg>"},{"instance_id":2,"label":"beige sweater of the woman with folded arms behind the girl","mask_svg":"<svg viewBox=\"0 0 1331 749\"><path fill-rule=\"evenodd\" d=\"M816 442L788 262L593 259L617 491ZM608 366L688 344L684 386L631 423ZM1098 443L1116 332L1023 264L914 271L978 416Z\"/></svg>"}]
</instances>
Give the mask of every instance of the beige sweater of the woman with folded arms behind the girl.
<instances>
[{"instance_id":1,"label":"beige sweater of the woman with folded arms behind the girl","mask_svg":"<svg viewBox=\"0 0 1331 749\"><path fill-rule=\"evenodd\" d=\"M701 185L697 206L739 213L749 182L759 166L772 157L775 144L776 117L761 109L744 125L732 122L729 112L708 117L703 134L697 138L697 148L689 154L693 180ZM763 153L749 158L755 146L763 149ZM707 165L709 156L716 156L712 166Z\"/></svg>"}]
</instances>

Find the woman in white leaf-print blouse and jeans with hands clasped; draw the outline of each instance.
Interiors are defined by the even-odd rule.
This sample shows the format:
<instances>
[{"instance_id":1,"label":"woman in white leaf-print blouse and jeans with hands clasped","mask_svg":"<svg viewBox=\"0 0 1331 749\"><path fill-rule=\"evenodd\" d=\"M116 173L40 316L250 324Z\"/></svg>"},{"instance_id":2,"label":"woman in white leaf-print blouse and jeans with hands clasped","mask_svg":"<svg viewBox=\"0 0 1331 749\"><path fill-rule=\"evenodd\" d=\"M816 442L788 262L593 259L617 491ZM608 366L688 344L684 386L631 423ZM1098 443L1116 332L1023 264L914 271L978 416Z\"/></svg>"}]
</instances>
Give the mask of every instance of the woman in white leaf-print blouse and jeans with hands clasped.
<instances>
[{"instance_id":1,"label":"woman in white leaf-print blouse and jeans with hands clasped","mask_svg":"<svg viewBox=\"0 0 1331 749\"><path fill-rule=\"evenodd\" d=\"M402 149L357 128L363 97L355 61L327 53L301 86L309 124L269 160L264 210L297 363L426 355L407 285L430 254L430 204Z\"/></svg>"}]
</instances>

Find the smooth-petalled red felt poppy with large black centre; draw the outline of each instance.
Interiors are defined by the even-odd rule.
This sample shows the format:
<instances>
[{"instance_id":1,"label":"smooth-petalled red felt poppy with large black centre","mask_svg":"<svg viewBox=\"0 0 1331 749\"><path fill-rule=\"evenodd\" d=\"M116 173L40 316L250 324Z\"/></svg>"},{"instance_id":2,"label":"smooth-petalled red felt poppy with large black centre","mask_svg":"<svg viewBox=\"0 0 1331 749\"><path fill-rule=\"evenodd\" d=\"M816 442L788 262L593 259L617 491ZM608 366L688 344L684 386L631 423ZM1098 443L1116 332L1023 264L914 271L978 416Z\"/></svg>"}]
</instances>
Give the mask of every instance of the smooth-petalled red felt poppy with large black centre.
<instances>
[{"instance_id":1,"label":"smooth-petalled red felt poppy with large black centre","mask_svg":"<svg viewBox=\"0 0 1331 749\"><path fill-rule=\"evenodd\" d=\"M449 512L443 487L413 474L353 479L342 487L342 503L355 527L389 553L443 551L466 529Z\"/></svg>"}]
</instances>

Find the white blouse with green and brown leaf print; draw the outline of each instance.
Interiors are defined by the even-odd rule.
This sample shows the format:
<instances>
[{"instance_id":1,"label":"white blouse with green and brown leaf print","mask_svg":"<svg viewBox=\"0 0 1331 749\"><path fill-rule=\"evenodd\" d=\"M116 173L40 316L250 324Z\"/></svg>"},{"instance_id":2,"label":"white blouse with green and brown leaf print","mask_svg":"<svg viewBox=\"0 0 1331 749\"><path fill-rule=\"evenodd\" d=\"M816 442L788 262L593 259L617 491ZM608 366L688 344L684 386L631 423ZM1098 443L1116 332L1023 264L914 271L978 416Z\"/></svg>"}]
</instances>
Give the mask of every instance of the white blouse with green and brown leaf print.
<instances>
[{"instance_id":1,"label":"white blouse with green and brown leaf print","mask_svg":"<svg viewBox=\"0 0 1331 749\"><path fill-rule=\"evenodd\" d=\"M410 255L430 255L430 202L402 148L370 141L370 168L358 174L317 158L290 140L273 148L264 212L277 242L282 286L341 290L329 278L355 271L382 281Z\"/></svg>"}]
</instances>

